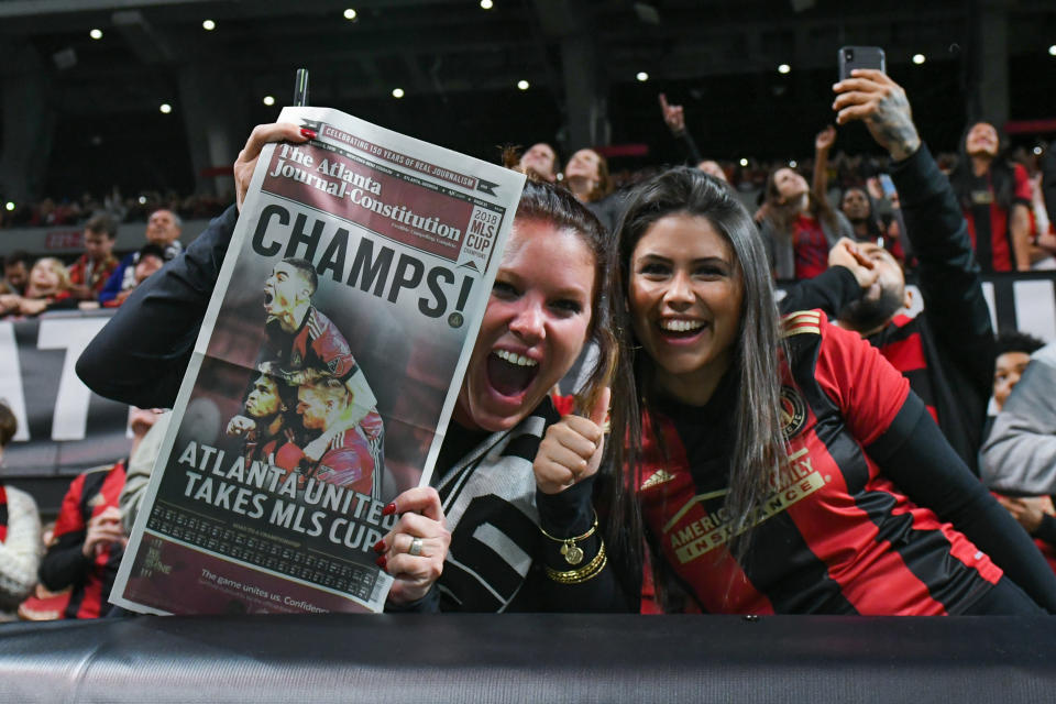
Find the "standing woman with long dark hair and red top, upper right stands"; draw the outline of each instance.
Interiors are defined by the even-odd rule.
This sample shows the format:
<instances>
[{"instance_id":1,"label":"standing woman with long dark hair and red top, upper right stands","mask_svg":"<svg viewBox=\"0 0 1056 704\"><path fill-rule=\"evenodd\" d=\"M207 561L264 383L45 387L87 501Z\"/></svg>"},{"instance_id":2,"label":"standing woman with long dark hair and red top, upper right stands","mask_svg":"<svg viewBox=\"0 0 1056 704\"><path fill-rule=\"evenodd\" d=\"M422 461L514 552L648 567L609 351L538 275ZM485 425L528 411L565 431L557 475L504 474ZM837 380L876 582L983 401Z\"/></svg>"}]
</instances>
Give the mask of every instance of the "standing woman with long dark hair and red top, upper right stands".
<instances>
[{"instance_id":1,"label":"standing woman with long dark hair and red top, upper right stands","mask_svg":"<svg viewBox=\"0 0 1056 704\"><path fill-rule=\"evenodd\" d=\"M968 128L949 175L985 272L1031 268L1031 187L1026 169L1004 156L1004 140L989 122Z\"/></svg>"}]
</instances>

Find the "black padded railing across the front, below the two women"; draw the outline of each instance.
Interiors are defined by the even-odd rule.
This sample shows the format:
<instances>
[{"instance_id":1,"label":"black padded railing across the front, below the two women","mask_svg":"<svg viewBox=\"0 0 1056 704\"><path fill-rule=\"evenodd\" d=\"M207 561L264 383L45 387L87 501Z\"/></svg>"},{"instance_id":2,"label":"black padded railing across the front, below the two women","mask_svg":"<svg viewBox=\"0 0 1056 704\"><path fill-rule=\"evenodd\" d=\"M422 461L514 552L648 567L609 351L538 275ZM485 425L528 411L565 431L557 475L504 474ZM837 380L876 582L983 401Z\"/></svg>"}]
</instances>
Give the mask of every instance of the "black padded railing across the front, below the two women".
<instances>
[{"instance_id":1,"label":"black padded railing across the front, below the two women","mask_svg":"<svg viewBox=\"0 0 1056 704\"><path fill-rule=\"evenodd\" d=\"M1056 618L384 615L0 626L2 702L1047 702Z\"/></svg>"}]
</instances>

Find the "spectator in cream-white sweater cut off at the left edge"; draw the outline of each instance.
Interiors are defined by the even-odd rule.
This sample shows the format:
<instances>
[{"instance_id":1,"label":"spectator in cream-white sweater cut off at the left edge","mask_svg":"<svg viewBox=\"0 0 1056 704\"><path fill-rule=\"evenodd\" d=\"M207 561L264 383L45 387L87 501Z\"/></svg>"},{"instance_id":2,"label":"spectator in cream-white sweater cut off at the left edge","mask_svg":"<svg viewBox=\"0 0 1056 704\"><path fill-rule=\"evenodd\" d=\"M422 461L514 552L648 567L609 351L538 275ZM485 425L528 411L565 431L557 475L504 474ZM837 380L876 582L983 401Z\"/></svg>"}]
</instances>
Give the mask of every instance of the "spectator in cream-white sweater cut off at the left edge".
<instances>
[{"instance_id":1,"label":"spectator in cream-white sweater cut off at the left edge","mask_svg":"<svg viewBox=\"0 0 1056 704\"><path fill-rule=\"evenodd\" d=\"M0 461L18 420L0 402ZM41 518L33 497L0 482L0 622L13 620L19 604L36 584L41 560Z\"/></svg>"}]
</instances>

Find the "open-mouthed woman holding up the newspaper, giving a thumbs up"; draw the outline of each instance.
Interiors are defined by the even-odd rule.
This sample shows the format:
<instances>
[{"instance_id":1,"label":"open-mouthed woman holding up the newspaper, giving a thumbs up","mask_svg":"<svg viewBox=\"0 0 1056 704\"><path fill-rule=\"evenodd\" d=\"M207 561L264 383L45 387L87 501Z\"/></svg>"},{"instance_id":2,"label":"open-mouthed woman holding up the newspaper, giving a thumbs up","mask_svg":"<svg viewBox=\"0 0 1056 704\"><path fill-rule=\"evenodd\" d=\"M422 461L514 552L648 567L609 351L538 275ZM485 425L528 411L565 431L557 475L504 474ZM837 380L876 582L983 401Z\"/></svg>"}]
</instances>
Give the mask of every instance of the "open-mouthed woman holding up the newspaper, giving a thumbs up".
<instances>
[{"instance_id":1,"label":"open-mouthed woman holding up the newspaper, giving a thumbs up","mask_svg":"<svg viewBox=\"0 0 1056 704\"><path fill-rule=\"evenodd\" d=\"M238 206L267 143L314 136L293 124L257 127L235 163ZM231 208L215 220L92 341L77 366L90 387L141 406L146 398L173 404L237 217ZM604 244L597 220L570 194L528 184L433 486L409 490L385 508L399 515L375 546L378 564L396 578L387 607L626 608L614 580L594 579L612 569L603 536L617 534L598 525L593 498L620 508L614 487L596 482L608 405L604 361L615 346L602 305ZM576 430L568 455L534 465L542 435L561 419L549 392L588 340L603 363L581 397L561 404L583 416L565 417L562 427Z\"/></svg>"}]
</instances>

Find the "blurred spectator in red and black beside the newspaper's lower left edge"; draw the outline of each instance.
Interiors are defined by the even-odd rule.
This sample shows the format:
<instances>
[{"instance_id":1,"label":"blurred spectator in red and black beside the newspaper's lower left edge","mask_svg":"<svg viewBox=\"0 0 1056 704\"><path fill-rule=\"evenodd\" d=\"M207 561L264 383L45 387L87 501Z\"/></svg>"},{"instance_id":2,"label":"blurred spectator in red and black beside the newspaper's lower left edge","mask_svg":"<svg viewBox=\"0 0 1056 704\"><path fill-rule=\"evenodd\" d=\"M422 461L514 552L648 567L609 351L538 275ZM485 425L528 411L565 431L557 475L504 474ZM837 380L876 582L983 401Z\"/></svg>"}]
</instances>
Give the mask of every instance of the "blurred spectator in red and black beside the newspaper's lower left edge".
<instances>
[{"instance_id":1,"label":"blurred spectator in red and black beside the newspaper's lower left edge","mask_svg":"<svg viewBox=\"0 0 1056 704\"><path fill-rule=\"evenodd\" d=\"M131 409L132 452L155 418L153 410ZM127 464L121 460L80 474L63 498L40 576L53 592L73 586L66 618L97 618L111 608L107 597L128 542L118 508Z\"/></svg>"}]
</instances>

